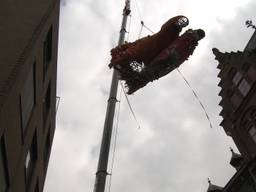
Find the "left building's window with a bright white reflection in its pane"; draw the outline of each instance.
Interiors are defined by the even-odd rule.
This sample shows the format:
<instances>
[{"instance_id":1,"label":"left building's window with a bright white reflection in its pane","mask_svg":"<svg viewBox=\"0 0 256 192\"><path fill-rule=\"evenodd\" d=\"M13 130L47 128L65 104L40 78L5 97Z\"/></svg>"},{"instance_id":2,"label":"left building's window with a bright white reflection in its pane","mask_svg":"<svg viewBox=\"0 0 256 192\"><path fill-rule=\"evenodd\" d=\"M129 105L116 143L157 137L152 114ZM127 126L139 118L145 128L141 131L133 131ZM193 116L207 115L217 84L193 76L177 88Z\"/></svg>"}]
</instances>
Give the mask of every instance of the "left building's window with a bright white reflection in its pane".
<instances>
[{"instance_id":1,"label":"left building's window with a bright white reflection in its pane","mask_svg":"<svg viewBox=\"0 0 256 192\"><path fill-rule=\"evenodd\" d=\"M26 172L26 183L30 182L36 160L37 160L37 138L36 132L33 136L32 143L27 152L26 160L25 160L25 172Z\"/></svg>"}]
</instances>

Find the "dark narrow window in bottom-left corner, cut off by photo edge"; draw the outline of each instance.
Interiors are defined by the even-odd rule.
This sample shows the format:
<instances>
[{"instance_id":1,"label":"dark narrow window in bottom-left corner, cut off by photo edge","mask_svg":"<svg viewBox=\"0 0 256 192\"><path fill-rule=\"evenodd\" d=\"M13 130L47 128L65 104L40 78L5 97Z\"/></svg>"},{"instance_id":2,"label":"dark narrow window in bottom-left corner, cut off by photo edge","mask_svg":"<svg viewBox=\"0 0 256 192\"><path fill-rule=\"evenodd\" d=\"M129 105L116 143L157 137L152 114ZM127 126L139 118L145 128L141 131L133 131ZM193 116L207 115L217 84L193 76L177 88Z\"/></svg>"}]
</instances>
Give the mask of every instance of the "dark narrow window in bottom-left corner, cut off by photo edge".
<instances>
[{"instance_id":1,"label":"dark narrow window in bottom-left corner, cut off by photo edge","mask_svg":"<svg viewBox=\"0 0 256 192\"><path fill-rule=\"evenodd\" d=\"M8 187L8 174L5 157L4 141L0 138L0 192L6 192Z\"/></svg>"}]
</instances>

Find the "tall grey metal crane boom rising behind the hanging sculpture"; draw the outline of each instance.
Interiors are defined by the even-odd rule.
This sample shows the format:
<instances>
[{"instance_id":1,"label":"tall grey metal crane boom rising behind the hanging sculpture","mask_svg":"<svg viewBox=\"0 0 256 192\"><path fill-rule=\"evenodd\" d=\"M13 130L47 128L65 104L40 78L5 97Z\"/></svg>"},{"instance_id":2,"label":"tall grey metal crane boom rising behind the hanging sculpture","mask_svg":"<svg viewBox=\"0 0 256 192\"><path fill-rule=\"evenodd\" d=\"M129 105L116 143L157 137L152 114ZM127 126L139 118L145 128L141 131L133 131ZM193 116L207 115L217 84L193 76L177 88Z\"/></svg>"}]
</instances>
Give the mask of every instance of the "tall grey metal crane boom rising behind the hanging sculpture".
<instances>
[{"instance_id":1,"label":"tall grey metal crane boom rising behind the hanging sculpture","mask_svg":"<svg viewBox=\"0 0 256 192\"><path fill-rule=\"evenodd\" d=\"M118 45L121 45L124 43L124 38L126 33L125 28L126 28L127 18L129 14L130 14L130 0L126 0L125 7L123 9L123 20L122 20L122 26L120 30ZM95 179L95 185L93 190L94 192L105 191L106 177L108 175L107 167L108 167L109 149L110 149L110 143L111 143L115 106L117 102L117 99L116 99L117 88L118 88L118 72L114 70L112 75L112 82L111 82L110 94L108 99L103 136L101 141L98 169L96 172L96 179Z\"/></svg>"}]
</instances>

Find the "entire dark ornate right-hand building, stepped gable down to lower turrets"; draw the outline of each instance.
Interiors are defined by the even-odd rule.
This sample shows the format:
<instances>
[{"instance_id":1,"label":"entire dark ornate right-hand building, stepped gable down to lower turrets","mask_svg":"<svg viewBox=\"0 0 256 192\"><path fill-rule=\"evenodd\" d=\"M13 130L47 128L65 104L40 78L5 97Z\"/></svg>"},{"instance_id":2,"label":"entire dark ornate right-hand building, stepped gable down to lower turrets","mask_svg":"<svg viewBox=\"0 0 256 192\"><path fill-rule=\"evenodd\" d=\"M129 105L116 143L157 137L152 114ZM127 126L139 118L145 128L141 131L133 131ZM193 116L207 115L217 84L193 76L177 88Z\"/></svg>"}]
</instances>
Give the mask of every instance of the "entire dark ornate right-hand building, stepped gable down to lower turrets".
<instances>
[{"instance_id":1,"label":"entire dark ornate right-hand building, stepped gable down to lower turrets","mask_svg":"<svg viewBox=\"0 0 256 192\"><path fill-rule=\"evenodd\" d=\"M219 191L256 192L256 32L242 52L213 53L220 69L220 125L241 153L232 150L237 172Z\"/></svg>"}]
</instances>

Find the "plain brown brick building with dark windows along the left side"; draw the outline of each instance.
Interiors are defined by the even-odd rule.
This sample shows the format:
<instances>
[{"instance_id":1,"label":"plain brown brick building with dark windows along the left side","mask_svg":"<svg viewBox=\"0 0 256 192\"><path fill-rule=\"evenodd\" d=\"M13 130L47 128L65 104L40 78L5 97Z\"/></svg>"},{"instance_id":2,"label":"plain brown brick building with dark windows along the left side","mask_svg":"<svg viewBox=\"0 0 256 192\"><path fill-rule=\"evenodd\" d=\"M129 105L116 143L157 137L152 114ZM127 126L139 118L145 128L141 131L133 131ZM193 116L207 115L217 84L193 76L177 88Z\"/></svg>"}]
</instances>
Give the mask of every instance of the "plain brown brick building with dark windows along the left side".
<instances>
[{"instance_id":1,"label":"plain brown brick building with dark windows along the left side","mask_svg":"<svg viewBox=\"0 0 256 192\"><path fill-rule=\"evenodd\" d=\"M40 192L55 131L59 0L1 1L0 23L0 192Z\"/></svg>"}]
</instances>

